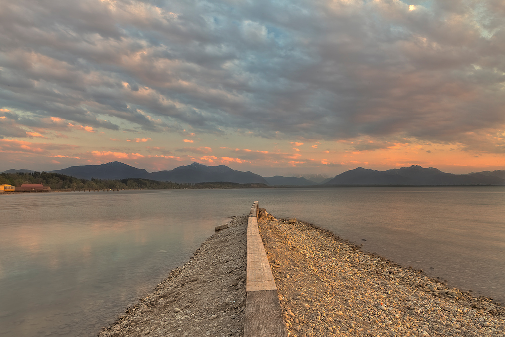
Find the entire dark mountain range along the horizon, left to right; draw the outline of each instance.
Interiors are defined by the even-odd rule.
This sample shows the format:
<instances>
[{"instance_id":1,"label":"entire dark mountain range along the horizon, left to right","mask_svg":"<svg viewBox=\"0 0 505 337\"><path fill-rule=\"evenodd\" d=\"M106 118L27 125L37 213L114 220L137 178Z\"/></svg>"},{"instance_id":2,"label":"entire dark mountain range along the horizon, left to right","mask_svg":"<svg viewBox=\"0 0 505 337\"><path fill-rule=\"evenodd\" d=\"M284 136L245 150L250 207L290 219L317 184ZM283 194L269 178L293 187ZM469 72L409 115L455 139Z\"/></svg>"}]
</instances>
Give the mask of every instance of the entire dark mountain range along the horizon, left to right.
<instances>
[{"instance_id":1,"label":"entire dark mountain range along the horizon, left to right","mask_svg":"<svg viewBox=\"0 0 505 337\"><path fill-rule=\"evenodd\" d=\"M31 170L8 170L6 173L33 172ZM356 186L356 185L505 185L505 171L482 171L469 174L445 173L436 168L423 168L419 165L377 171L358 167L343 172L334 178L317 183L305 177L262 177L250 171L236 171L228 166L208 166L192 163L173 170L147 172L121 162L101 165L71 166L52 171L83 179L126 179L144 178L177 183L199 183L229 181L236 183L263 183L277 186ZM315 176L316 177L316 176ZM316 180L316 179L315 179Z\"/></svg>"}]
</instances>

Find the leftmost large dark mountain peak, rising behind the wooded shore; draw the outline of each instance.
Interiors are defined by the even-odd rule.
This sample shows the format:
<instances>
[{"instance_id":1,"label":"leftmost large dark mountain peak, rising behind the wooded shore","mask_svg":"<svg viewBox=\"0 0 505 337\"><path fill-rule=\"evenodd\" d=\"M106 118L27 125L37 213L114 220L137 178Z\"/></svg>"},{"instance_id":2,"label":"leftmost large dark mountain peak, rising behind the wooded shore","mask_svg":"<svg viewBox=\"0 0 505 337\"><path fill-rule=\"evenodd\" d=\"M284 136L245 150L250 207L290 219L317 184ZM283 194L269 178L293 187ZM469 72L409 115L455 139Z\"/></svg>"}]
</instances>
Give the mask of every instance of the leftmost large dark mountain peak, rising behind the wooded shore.
<instances>
[{"instance_id":1,"label":"leftmost large dark mountain peak, rising behind the wooded shore","mask_svg":"<svg viewBox=\"0 0 505 337\"><path fill-rule=\"evenodd\" d=\"M81 179L124 179L124 178L145 178L151 179L149 177L149 172L144 169L138 169L136 167L123 164L121 162L111 162L101 165L82 165L82 166L71 166L62 170L51 171L55 173L61 173L70 175L72 177Z\"/></svg>"}]
</instances>

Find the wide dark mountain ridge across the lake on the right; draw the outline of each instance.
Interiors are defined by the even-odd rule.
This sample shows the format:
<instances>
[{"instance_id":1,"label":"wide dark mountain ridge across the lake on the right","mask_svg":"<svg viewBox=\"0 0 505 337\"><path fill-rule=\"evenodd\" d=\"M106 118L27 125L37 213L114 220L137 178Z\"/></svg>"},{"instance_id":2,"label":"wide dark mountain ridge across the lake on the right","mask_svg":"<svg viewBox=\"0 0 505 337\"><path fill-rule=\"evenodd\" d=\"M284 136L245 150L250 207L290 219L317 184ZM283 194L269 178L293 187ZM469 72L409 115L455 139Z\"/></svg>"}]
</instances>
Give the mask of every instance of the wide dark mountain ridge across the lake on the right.
<instances>
[{"instance_id":1,"label":"wide dark mountain ridge across the lake on the right","mask_svg":"<svg viewBox=\"0 0 505 337\"><path fill-rule=\"evenodd\" d=\"M358 167L337 175L324 185L505 185L505 179L482 174L444 173L433 167L413 165L387 171Z\"/></svg>"}]
</instances>

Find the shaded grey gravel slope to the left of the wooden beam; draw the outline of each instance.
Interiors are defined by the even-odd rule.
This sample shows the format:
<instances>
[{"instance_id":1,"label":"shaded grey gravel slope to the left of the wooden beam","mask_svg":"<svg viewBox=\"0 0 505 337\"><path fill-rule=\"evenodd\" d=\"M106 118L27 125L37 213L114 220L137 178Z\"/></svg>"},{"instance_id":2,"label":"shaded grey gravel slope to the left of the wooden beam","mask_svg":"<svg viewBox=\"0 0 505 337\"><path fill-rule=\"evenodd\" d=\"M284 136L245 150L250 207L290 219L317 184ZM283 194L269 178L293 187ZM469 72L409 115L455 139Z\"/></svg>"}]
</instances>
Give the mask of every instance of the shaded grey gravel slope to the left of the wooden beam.
<instances>
[{"instance_id":1,"label":"shaded grey gravel slope to the left of the wooden beam","mask_svg":"<svg viewBox=\"0 0 505 337\"><path fill-rule=\"evenodd\" d=\"M241 336L247 216L232 217L153 293L98 336Z\"/></svg>"}]
</instances>

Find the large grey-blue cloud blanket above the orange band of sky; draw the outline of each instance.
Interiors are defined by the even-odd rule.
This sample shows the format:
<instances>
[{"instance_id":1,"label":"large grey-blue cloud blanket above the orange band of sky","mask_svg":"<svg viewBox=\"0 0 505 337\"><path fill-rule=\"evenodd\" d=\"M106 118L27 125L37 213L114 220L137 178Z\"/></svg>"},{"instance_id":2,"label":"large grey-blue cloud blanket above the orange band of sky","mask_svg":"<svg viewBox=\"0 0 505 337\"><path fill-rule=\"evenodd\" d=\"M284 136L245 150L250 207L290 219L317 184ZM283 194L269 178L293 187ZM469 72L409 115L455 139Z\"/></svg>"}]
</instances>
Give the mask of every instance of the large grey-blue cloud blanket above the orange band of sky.
<instances>
[{"instance_id":1,"label":"large grey-blue cloud blanket above the orange band of sky","mask_svg":"<svg viewBox=\"0 0 505 337\"><path fill-rule=\"evenodd\" d=\"M0 123L18 118L3 137L241 129L501 151L482 136L505 128L496 0L19 0L0 46Z\"/></svg>"}]
</instances>

